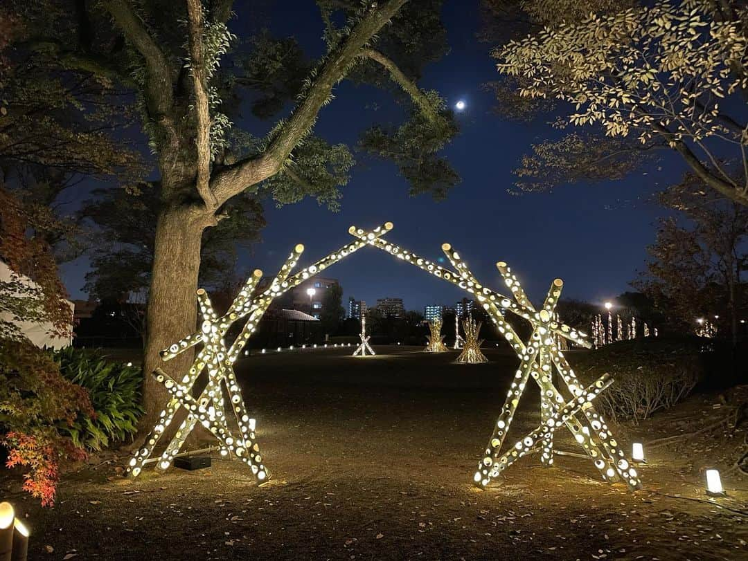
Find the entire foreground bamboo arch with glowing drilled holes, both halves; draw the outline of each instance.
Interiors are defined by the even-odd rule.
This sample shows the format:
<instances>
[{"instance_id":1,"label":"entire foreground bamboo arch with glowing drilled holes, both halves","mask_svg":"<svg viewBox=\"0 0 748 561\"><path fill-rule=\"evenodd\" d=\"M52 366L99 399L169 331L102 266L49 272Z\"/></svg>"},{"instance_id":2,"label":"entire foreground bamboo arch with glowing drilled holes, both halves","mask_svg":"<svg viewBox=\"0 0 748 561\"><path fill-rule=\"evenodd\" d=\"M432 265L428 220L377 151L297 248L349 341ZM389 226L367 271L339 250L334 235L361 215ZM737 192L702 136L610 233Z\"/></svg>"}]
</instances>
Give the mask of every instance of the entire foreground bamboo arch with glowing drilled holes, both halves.
<instances>
[{"instance_id":1,"label":"entire foreground bamboo arch with glowing drilled holes, both halves","mask_svg":"<svg viewBox=\"0 0 748 561\"><path fill-rule=\"evenodd\" d=\"M565 426L571 431L586 454L594 461L595 467L598 468L604 480L614 481L620 478L632 489L640 486L636 470L631 468L628 460L624 457L624 453L619 449L616 440L608 430L607 424L592 407L591 401L607 387L610 380L607 379L607 376L603 376L589 388L581 389L574 371L571 370L555 342L556 337L554 335L560 335L560 337L583 347L590 346L585 341L585 334L577 332L576 329L560 323L554 318L555 306L560 297L563 282L560 279L554 280L545 303L538 311L527 299L516 276L512 274L506 263L498 262L497 268L503 276L506 286L512 291L512 299L482 286L450 244L443 244L442 250L456 270L441 267L432 261L414 255L408 250L382 240L380 237L392 228L393 225L389 222L383 226L378 226L371 232L351 226L349 233L356 238L354 242L302 269L294 276L289 276L301 252L304 251L304 247L299 244L291 252L286 259L286 263L283 264L278 275L275 276L275 279L265 291L254 294L257 291L257 282L262 276L262 273L257 270L252 274L242 291L239 292L239 296L236 297L228 312L221 317L218 317L213 311L205 291L202 289L197 291L197 300L203 316L200 331L188 335L172 344L168 349L162 350L161 355L164 361L168 361L192 347L197 345L202 345L202 347L195 356L191 368L182 377L173 378L160 368L157 368L154 372L156 379L165 385L170 394L170 400L162 411L153 431L147 436L143 447L130 460L126 473L131 477L136 477L149 461L156 461L156 468L159 470L168 468L174 456L183 446L188 434L199 422L217 438L222 454L231 453L248 464L257 482L265 483L270 477L269 472L262 463L254 427L250 426L250 418L247 415L242 393L233 372L233 363L257 329L257 323L259 323L260 318L273 299L368 244L383 249L396 256L396 258L414 264L473 294L521 360L520 368L518 368L515 379L509 388L500 418L494 426L494 433L479 462L478 471L473 477L477 486L485 487L516 459L538 446L542 448L541 459L543 464L551 465L553 463L554 431L561 426ZM530 322L533 333L527 344L521 341L512 326L505 320L503 311L511 312ZM242 331L230 347L227 347L224 336L230 326L245 318L246 321ZM465 329L467 331L467 328ZM474 338L477 339L477 329L474 331ZM565 382L568 393L571 394L571 400L563 397L554 385L554 367L560 379ZM194 397L194 383L203 372L206 372L208 382L199 397ZM503 441L530 376L542 391L542 423L536 430L518 441L514 447L502 455L500 452ZM228 400L226 400L226 395L229 397ZM174 421L180 408L186 410L186 418L161 457L157 460L150 459L159 439L162 438L167 427ZM239 426L238 434L229 427L226 415L227 409L231 409L236 417L236 423Z\"/></svg>"}]
</instances>

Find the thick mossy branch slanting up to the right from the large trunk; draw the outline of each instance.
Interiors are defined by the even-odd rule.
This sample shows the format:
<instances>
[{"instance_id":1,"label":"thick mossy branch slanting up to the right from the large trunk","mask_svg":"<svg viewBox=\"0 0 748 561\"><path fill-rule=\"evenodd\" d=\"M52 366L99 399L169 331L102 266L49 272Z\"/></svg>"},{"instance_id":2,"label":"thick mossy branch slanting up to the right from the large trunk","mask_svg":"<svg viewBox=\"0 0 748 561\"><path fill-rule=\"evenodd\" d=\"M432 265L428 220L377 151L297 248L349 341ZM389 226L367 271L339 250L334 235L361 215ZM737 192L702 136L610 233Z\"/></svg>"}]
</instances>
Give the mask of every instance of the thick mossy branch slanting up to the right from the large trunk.
<instances>
[{"instance_id":1,"label":"thick mossy branch slanting up to the right from the large trunk","mask_svg":"<svg viewBox=\"0 0 748 561\"><path fill-rule=\"evenodd\" d=\"M335 84L345 77L350 66L361 56L361 49L367 46L406 1L408 0L389 0L381 7L370 10L355 25L346 40L328 55L304 99L283 124L266 152L255 158L239 161L214 174L211 187L219 205L247 187L278 173L292 149L314 125L319 110L330 99Z\"/></svg>"}]
</instances>

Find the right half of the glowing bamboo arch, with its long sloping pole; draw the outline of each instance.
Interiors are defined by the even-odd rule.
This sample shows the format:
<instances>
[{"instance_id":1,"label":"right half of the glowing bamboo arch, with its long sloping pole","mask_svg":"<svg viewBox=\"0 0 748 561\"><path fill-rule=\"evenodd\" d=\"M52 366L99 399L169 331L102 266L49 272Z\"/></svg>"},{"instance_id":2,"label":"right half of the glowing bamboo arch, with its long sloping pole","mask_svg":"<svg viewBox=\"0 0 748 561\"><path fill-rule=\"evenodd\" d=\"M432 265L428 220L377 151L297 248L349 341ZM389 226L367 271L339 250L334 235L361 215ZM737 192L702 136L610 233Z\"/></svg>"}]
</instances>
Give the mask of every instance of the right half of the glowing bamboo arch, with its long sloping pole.
<instances>
[{"instance_id":1,"label":"right half of the glowing bamboo arch, with its long sloping pole","mask_svg":"<svg viewBox=\"0 0 748 561\"><path fill-rule=\"evenodd\" d=\"M554 432L558 427L565 426L574 435L577 443L592 460L604 480L610 482L622 480L630 489L640 487L637 471L631 467L631 462L625 458L623 450L619 448L618 442L608 430L604 419L595 411L591 403L592 399L607 387L609 380L604 376L590 388L583 388L571 366L566 362L564 354L555 344L553 335L557 334L580 346L591 346L585 340L585 334L554 320L554 310L563 287L561 279L556 279L551 284L551 290L538 311L527 299L518 279L503 261L496 265L506 286L512 291L512 299L481 285L450 244L443 244L441 248L455 270L441 267L381 238L369 238L369 233L364 229L352 227L349 231L359 240L368 241L370 245L474 294L476 300L482 304L494 325L520 358L520 367L506 395L500 417L494 425L494 433L488 441L488 447L473 476L476 486L487 486L520 455L536 447L541 450L542 463L552 465ZM521 341L512 326L504 319L503 311L518 315L533 326L533 333L527 344ZM563 397L554 385L554 367L564 382L570 398ZM509 431L527 379L530 377L535 380L541 390L541 424L538 429L516 442L506 453L501 453L506 433Z\"/></svg>"}]
</instances>

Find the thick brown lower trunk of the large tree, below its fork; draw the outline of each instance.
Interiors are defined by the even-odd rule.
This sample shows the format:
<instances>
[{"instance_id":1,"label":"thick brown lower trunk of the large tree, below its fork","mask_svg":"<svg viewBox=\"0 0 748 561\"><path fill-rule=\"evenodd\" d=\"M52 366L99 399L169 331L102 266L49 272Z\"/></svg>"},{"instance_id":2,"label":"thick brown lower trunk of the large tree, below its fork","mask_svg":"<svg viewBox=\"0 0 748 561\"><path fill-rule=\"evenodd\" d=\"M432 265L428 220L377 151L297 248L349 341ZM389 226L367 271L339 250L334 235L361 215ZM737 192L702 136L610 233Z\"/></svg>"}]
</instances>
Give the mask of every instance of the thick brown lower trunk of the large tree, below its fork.
<instances>
[{"instance_id":1,"label":"thick brown lower trunk of the large tree, below its fork","mask_svg":"<svg viewBox=\"0 0 748 561\"><path fill-rule=\"evenodd\" d=\"M153 428L168 401L165 388L153 377L153 370L161 366L180 379L191 366L191 352L165 363L159 351L190 335L197 326L195 291L205 226L205 214L189 205L164 208L156 224L143 363L145 415L139 427L140 436Z\"/></svg>"}]
</instances>

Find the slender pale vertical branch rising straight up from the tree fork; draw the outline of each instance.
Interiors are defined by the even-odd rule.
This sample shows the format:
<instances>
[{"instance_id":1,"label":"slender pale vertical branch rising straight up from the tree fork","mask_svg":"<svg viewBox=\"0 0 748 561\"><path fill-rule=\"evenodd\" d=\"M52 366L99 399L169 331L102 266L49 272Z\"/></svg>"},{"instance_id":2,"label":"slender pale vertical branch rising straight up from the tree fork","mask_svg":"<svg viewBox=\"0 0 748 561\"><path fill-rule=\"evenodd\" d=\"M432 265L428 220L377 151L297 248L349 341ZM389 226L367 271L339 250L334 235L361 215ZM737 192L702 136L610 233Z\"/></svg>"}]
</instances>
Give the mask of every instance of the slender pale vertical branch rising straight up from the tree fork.
<instances>
[{"instance_id":1,"label":"slender pale vertical branch rising straight up from the tree fork","mask_svg":"<svg viewBox=\"0 0 748 561\"><path fill-rule=\"evenodd\" d=\"M203 7L200 0L187 0L190 73L194 87L194 111L197 115L197 193L208 212L218 208L209 186L210 180L210 114L203 57Z\"/></svg>"}]
</instances>

